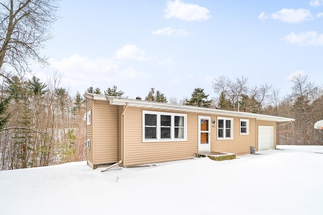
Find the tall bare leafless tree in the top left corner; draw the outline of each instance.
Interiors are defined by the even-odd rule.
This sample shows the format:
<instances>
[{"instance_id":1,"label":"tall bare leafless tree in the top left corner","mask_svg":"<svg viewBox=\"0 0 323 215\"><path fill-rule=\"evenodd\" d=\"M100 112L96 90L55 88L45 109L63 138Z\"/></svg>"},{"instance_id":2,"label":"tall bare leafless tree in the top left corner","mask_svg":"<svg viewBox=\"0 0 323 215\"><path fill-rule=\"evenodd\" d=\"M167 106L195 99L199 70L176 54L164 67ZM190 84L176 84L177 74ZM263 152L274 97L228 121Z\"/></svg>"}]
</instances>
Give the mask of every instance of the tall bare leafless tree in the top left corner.
<instances>
[{"instance_id":1,"label":"tall bare leafless tree in the top left corner","mask_svg":"<svg viewBox=\"0 0 323 215\"><path fill-rule=\"evenodd\" d=\"M0 2L0 75L9 68L29 72L30 59L46 64L40 55L51 38L50 26L57 19L57 0L5 0Z\"/></svg>"}]
</instances>

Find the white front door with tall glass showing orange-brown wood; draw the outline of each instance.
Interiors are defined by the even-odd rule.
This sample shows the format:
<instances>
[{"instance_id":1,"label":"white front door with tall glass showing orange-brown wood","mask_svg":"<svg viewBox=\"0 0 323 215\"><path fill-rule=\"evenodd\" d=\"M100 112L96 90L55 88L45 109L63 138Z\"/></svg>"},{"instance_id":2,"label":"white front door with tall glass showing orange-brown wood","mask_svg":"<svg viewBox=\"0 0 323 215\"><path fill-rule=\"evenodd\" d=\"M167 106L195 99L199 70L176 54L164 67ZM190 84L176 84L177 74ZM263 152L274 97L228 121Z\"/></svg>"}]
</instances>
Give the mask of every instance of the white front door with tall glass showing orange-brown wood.
<instances>
[{"instance_id":1,"label":"white front door with tall glass showing orange-brown wood","mask_svg":"<svg viewBox=\"0 0 323 215\"><path fill-rule=\"evenodd\" d=\"M198 152L210 152L211 150L210 122L210 117L198 116Z\"/></svg>"}]
</instances>

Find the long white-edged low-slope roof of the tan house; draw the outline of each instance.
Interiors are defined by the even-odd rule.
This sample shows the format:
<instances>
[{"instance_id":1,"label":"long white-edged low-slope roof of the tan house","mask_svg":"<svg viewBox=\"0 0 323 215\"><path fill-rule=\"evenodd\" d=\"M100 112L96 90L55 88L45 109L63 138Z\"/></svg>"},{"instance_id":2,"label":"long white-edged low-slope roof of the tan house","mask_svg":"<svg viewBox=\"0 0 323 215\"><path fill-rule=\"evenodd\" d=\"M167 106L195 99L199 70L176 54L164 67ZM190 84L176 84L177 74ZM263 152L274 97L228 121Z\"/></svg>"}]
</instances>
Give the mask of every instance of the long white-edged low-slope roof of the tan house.
<instances>
[{"instance_id":1,"label":"long white-edged low-slope roof of the tan house","mask_svg":"<svg viewBox=\"0 0 323 215\"><path fill-rule=\"evenodd\" d=\"M230 116L230 117L255 118L257 120L275 121L275 122L294 121L294 119L292 118L285 118L285 117L252 114L247 112L226 111L226 110L211 109L211 108L201 108L197 106L170 104L170 103L145 101L145 100L130 99L130 98L120 98L120 97L99 95L99 94L93 94L93 93L85 93L85 97L91 98L94 100L107 100L110 102L110 104L113 104L113 105L128 104L128 106L135 106L139 108L152 108L152 109L167 110L167 111L173 111L173 112L181 111L181 112L193 112L193 113L200 113L200 114L216 114L216 115L223 115L223 116Z\"/></svg>"}]
</instances>

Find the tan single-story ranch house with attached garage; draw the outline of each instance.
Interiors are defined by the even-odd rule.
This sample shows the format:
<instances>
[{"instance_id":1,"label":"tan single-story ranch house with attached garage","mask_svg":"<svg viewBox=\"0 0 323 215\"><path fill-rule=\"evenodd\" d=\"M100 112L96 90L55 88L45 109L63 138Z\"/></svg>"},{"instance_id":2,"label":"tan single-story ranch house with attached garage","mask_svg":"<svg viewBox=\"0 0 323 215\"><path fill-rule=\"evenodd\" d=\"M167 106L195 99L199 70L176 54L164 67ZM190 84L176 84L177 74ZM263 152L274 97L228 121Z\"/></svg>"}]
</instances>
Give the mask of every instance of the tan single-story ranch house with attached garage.
<instances>
[{"instance_id":1,"label":"tan single-story ranch house with attached garage","mask_svg":"<svg viewBox=\"0 0 323 215\"><path fill-rule=\"evenodd\" d=\"M277 122L294 119L85 93L86 158L101 165L167 162L199 152L276 148Z\"/></svg>"}]
</instances>

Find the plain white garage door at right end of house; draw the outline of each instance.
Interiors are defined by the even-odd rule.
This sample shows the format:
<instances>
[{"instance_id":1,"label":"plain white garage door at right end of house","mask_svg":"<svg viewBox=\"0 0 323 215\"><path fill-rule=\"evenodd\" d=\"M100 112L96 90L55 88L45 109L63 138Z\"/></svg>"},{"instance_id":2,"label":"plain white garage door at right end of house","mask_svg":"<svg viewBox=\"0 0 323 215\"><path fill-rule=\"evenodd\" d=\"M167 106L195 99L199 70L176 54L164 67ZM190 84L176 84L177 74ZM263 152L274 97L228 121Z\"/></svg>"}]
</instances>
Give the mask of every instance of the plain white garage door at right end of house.
<instances>
[{"instance_id":1,"label":"plain white garage door at right end of house","mask_svg":"<svg viewBox=\"0 0 323 215\"><path fill-rule=\"evenodd\" d=\"M258 126L258 150L274 148L274 126Z\"/></svg>"}]
</instances>

